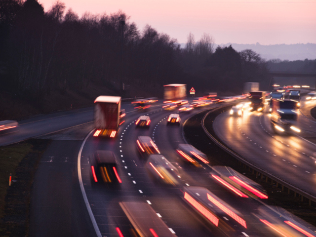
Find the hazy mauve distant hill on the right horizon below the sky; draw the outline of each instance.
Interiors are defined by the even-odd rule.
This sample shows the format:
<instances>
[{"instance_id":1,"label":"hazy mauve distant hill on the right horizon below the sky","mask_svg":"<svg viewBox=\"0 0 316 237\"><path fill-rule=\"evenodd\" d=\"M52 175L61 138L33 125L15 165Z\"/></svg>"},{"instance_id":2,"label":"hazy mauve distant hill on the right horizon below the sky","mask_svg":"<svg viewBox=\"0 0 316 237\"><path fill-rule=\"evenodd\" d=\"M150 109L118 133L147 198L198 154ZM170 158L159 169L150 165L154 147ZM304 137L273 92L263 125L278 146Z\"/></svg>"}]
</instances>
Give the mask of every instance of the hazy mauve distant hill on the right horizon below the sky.
<instances>
[{"instance_id":1,"label":"hazy mauve distant hill on the right horizon below the sky","mask_svg":"<svg viewBox=\"0 0 316 237\"><path fill-rule=\"evenodd\" d=\"M270 44L262 45L256 44L239 44L239 43L225 43L215 44L217 46L225 47L232 44L232 47L237 51L244 49L252 49L253 51L260 53L261 57L266 60L281 59L281 60L304 60L304 59L316 59L316 43L296 43L296 44ZM181 47L185 47L185 43L181 43Z\"/></svg>"}]
</instances>

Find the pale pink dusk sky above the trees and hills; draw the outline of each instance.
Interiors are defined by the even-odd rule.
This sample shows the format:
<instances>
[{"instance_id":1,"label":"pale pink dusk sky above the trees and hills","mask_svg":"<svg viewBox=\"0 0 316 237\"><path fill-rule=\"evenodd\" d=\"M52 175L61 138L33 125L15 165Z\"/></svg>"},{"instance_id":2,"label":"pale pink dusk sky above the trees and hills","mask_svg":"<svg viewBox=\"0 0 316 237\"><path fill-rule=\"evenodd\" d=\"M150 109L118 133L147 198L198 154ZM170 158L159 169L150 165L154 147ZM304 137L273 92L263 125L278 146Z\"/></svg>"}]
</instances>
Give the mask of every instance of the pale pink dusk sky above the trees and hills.
<instances>
[{"instance_id":1,"label":"pale pink dusk sky above the trees and hills","mask_svg":"<svg viewBox=\"0 0 316 237\"><path fill-rule=\"evenodd\" d=\"M56 0L38 0L45 11ZM79 17L122 10L140 30L146 24L185 43L209 33L215 43L316 43L316 0L59 0Z\"/></svg>"}]
</instances>

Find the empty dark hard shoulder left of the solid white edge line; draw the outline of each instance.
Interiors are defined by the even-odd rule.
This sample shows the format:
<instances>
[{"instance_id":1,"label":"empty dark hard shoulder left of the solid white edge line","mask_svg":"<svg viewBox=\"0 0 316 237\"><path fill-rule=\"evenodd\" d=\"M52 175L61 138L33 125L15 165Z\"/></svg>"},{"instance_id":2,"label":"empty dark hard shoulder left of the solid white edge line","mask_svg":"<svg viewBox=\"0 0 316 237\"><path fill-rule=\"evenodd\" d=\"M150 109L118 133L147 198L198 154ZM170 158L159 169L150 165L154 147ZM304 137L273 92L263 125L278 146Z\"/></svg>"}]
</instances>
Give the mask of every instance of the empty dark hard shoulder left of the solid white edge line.
<instances>
[{"instance_id":1,"label":"empty dark hard shoulder left of the solid white edge line","mask_svg":"<svg viewBox=\"0 0 316 237\"><path fill-rule=\"evenodd\" d=\"M43 154L31 193L31 237L86 237L94 231L78 183L79 147L78 141L53 141Z\"/></svg>"}]
</instances>

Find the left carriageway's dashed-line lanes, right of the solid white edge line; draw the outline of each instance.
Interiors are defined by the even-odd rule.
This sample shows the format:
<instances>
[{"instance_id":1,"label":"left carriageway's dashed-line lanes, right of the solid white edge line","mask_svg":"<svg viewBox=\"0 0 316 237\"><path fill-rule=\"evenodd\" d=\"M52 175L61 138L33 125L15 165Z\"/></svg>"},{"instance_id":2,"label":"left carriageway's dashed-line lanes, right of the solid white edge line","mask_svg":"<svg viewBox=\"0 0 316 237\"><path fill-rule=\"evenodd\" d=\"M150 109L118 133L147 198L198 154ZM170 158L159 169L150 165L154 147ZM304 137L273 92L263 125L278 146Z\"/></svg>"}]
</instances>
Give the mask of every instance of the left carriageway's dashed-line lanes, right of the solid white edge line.
<instances>
[{"instance_id":1,"label":"left carriageway's dashed-line lanes, right of the solid white edge line","mask_svg":"<svg viewBox=\"0 0 316 237\"><path fill-rule=\"evenodd\" d=\"M259 236L270 236L264 230L262 223L254 220L251 212L254 212L258 203L249 203L248 200L241 200L229 194L223 187L219 186L209 177L208 166L196 168L188 166L177 156L175 148L179 143L184 143L181 130L178 126L166 126L166 118L170 112L152 110L146 114L152 119L150 129L136 129L134 122L138 114L126 116L126 123L122 126L118 134L117 142L114 140L98 140L92 137L87 140L84 146L81 165L82 177L85 191L98 224L102 236L116 236L116 227L119 227L124 236L129 236L129 222L122 213L118 201L143 201L150 202L154 210L160 215L162 220L171 228L177 236L226 236L227 230L214 228L196 216L193 211L181 201L180 187L169 187L157 184L150 179L144 168L145 160L140 158L136 148L136 139L139 135L151 136L158 145L161 154L180 169L182 185L203 186L219 195L225 201L234 205L241 213L245 214L245 219L249 225L245 231L248 234ZM182 122L189 115L181 115ZM128 118L127 118L128 117ZM104 186L91 186L91 174L89 170L88 157L97 149L109 149L115 151L120 160L119 174L122 184L118 190L109 190ZM230 220L231 221L231 220ZM223 232L226 232L223 233ZM241 231L238 232L239 234ZM234 233L235 235L236 233ZM231 236L231 233L228 234Z\"/></svg>"}]
</instances>

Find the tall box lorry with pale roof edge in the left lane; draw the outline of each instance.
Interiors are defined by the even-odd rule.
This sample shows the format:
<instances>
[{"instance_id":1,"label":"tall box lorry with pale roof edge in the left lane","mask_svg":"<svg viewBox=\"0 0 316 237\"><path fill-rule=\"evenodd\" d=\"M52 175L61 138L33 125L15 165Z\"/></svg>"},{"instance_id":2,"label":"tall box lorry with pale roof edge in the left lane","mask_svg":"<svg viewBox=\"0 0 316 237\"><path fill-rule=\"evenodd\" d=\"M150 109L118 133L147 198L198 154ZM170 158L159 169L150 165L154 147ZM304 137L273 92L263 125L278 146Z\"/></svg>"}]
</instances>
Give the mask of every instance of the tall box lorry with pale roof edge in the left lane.
<instances>
[{"instance_id":1,"label":"tall box lorry with pale roof edge in the left lane","mask_svg":"<svg viewBox=\"0 0 316 237\"><path fill-rule=\"evenodd\" d=\"M99 96L94 101L94 137L114 138L120 123L119 96Z\"/></svg>"}]
</instances>

